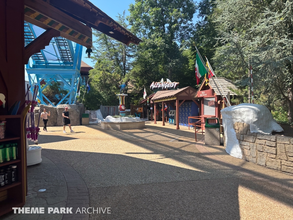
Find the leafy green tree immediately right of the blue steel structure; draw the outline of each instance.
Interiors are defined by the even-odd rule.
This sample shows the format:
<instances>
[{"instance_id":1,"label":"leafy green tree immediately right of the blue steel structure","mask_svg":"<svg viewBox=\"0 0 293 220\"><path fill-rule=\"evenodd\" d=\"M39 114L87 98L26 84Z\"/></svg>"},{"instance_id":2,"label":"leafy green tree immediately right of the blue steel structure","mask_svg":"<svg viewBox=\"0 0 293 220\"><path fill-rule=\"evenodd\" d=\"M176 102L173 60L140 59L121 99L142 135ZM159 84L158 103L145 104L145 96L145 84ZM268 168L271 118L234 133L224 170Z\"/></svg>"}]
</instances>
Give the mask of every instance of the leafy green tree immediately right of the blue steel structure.
<instances>
[{"instance_id":1,"label":"leafy green tree immediately right of the blue steel structure","mask_svg":"<svg viewBox=\"0 0 293 220\"><path fill-rule=\"evenodd\" d=\"M125 11L118 14L117 22L127 28ZM125 75L132 69L136 45L129 46L114 40L101 32L94 31L97 40L94 41L93 56L96 62L89 72L91 90L85 94L83 103L88 109L98 109L100 105L118 105L118 86L125 82ZM79 101L81 101L79 98Z\"/></svg>"}]
</instances>

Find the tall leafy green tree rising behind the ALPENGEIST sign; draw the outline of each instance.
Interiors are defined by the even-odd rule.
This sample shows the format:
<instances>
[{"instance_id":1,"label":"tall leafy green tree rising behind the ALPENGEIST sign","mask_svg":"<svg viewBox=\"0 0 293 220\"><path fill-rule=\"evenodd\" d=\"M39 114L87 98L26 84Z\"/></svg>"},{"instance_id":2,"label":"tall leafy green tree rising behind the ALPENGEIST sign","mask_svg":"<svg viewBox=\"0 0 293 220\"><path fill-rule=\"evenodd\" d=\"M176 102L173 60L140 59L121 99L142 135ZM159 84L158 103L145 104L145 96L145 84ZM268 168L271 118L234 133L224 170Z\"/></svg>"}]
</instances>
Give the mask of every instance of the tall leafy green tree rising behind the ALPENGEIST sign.
<instances>
[{"instance_id":1,"label":"tall leafy green tree rising behind the ALPENGEIST sign","mask_svg":"<svg viewBox=\"0 0 293 220\"><path fill-rule=\"evenodd\" d=\"M128 10L131 30L143 40L138 46L134 74L147 75L141 82L150 82L147 78L151 76L152 80L172 80L181 73L180 45L189 39L193 29L194 2L136 0Z\"/></svg>"}]
</instances>

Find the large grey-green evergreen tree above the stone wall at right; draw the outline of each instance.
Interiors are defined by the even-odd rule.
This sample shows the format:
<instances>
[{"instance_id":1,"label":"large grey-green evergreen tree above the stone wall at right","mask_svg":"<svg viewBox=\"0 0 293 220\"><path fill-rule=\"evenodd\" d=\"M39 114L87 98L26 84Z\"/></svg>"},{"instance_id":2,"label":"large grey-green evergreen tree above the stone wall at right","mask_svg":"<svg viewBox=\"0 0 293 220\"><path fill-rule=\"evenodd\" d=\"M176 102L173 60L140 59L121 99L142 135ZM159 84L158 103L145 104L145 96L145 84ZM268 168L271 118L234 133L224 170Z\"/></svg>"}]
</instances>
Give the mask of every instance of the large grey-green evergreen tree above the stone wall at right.
<instances>
[{"instance_id":1,"label":"large grey-green evergreen tree above the stone wall at right","mask_svg":"<svg viewBox=\"0 0 293 220\"><path fill-rule=\"evenodd\" d=\"M293 122L293 38L290 0L219 0L217 27L222 46L214 61L217 71L239 85L250 85L248 63L254 67L254 86L269 99L287 101ZM263 91L261 91L263 90Z\"/></svg>"}]
</instances>

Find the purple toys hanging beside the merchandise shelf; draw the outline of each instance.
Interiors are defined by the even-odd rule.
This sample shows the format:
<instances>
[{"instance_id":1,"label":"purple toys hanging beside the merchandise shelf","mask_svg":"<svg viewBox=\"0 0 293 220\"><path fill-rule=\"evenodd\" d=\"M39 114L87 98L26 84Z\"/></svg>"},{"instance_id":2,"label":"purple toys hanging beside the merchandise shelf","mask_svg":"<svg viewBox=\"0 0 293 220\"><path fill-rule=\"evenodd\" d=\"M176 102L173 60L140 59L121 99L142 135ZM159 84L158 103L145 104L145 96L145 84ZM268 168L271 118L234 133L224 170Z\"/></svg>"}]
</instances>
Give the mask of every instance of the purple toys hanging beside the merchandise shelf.
<instances>
[{"instance_id":1,"label":"purple toys hanging beside the merchandise shelf","mask_svg":"<svg viewBox=\"0 0 293 220\"><path fill-rule=\"evenodd\" d=\"M33 98L32 100L29 100L29 90L30 90L30 86L27 85L27 92L25 94L25 97L27 96L28 97L28 100L26 100L26 104L29 104L31 102L31 108L30 110L28 111L28 114L27 114L27 126L25 128L26 130L26 137L28 139L28 141L33 141L33 142L38 142L38 135L39 135L39 132L40 132L40 128L39 128L39 125L40 125L40 116L41 116L41 113L39 111L39 120L38 120L38 125L35 126L35 114L34 114L34 110L35 110L35 106L38 105L38 101L37 101L37 94L38 94L38 89L39 89L39 86L36 86L34 87L33 89Z\"/></svg>"}]
</instances>

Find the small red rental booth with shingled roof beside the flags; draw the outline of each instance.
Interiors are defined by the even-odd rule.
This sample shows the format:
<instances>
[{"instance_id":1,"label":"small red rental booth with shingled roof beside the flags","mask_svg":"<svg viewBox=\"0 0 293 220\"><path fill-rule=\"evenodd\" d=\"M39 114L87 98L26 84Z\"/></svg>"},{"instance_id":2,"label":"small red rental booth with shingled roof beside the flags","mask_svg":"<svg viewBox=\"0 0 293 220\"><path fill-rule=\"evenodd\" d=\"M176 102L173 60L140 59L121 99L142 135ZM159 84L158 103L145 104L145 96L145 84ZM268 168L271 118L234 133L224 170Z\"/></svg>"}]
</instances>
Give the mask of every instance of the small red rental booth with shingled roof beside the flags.
<instances>
[{"instance_id":1,"label":"small red rental booth with shingled roof beside the flags","mask_svg":"<svg viewBox=\"0 0 293 220\"><path fill-rule=\"evenodd\" d=\"M214 77L209 79L207 84L205 81L202 82L200 88L198 89L195 98L200 100L200 116L204 119L216 117L222 122L221 109L226 107L223 102L221 94L226 95L228 101L232 96L236 96L236 91L238 88L236 85L229 79L224 77Z\"/></svg>"}]
</instances>

